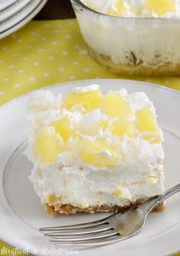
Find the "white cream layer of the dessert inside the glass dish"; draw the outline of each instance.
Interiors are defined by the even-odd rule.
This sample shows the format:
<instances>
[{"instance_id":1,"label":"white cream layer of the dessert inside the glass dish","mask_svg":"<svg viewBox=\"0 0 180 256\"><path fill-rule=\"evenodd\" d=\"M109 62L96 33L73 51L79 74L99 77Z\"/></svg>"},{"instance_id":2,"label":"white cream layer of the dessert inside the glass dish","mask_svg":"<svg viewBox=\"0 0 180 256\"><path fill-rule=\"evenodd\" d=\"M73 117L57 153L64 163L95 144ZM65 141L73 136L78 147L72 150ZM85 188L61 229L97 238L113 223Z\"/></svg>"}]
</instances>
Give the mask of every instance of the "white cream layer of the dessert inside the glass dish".
<instances>
[{"instance_id":1,"label":"white cream layer of the dessert inside the glass dish","mask_svg":"<svg viewBox=\"0 0 180 256\"><path fill-rule=\"evenodd\" d=\"M114 1L84 0L84 2L106 13L107 6L111 6ZM130 6L137 5L137 1L124 2L125 4L130 2ZM138 1L140 2L144 1ZM114 64L128 65L132 68L140 66L154 68L170 63L175 67L180 64L179 0L175 2L175 6L175 12L168 12L157 20L111 18L91 11L76 11L76 16L86 44L97 53L110 57ZM136 16L132 11L128 11L128 8L123 15ZM143 10L142 16L149 17L149 12ZM150 16L158 17L154 11ZM178 18L178 20L169 18Z\"/></svg>"}]
</instances>

